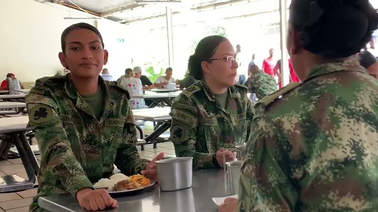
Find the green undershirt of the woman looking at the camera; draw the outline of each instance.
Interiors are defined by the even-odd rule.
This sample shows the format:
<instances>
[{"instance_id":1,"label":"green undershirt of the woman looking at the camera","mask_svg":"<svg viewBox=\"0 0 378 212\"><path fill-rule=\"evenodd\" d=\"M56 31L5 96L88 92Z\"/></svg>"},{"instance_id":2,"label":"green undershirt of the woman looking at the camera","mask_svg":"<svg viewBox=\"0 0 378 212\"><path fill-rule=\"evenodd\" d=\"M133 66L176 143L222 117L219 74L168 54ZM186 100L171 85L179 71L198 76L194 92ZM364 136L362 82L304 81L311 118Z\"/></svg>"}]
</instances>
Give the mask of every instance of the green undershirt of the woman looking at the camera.
<instances>
[{"instance_id":1,"label":"green undershirt of the woman looking at the camera","mask_svg":"<svg viewBox=\"0 0 378 212\"><path fill-rule=\"evenodd\" d=\"M101 86L98 86L98 90L94 94L90 95L81 95L84 100L87 102L89 109L95 115L96 118L100 118L102 115L102 108L105 104L105 92Z\"/></svg>"}]
</instances>

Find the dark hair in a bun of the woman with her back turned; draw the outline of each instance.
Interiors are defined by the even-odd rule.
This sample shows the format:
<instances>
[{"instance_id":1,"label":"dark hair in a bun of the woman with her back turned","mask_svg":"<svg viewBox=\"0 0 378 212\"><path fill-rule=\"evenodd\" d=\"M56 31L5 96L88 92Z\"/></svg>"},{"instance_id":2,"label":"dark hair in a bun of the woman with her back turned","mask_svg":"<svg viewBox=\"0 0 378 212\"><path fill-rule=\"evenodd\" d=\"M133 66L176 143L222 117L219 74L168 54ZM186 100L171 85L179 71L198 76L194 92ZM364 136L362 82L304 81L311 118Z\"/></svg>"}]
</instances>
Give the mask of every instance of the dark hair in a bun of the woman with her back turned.
<instances>
[{"instance_id":1,"label":"dark hair in a bun of the woman with her back turned","mask_svg":"<svg viewBox=\"0 0 378 212\"><path fill-rule=\"evenodd\" d=\"M293 0L290 20L300 31L302 48L329 58L359 52L378 28L369 0Z\"/></svg>"}]
</instances>

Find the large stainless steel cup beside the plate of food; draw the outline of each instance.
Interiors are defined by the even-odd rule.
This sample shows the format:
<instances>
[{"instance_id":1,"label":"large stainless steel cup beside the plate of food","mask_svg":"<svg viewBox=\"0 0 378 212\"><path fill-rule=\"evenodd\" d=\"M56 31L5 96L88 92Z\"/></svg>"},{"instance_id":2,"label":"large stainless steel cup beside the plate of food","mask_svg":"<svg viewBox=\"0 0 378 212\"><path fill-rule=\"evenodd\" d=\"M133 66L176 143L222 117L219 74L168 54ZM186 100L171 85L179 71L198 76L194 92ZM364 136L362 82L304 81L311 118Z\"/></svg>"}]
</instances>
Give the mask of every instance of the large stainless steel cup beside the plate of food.
<instances>
[{"instance_id":1,"label":"large stainless steel cup beside the plate of food","mask_svg":"<svg viewBox=\"0 0 378 212\"><path fill-rule=\"evenodd\" d=\"M155 161L160 190L172 191L192 187L193 157Z\"/></svg>"}]
</instances>

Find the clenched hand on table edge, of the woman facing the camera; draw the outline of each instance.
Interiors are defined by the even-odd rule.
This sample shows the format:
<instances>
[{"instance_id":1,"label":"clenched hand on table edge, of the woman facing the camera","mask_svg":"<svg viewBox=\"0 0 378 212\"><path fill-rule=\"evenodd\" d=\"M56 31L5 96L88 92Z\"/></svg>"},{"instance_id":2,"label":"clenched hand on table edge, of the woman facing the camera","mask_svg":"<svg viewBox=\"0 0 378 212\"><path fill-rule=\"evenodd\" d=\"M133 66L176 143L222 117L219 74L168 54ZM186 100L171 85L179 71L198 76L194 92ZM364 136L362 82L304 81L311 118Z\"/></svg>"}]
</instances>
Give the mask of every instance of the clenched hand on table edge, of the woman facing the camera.
<instances>
[{"instance_id":1,"label":"clenched hand on table edge, of the woman facing the camera","mask_svg":"<svg viewBox=\"0 0 378 212\"><path fill-rule=\"evenodd\" d=\"M81 189L77 192L76 198L80 206L87 210L104 210L108 207L117 207L118 204L105 189Z\"/></svg>"}]
</instances>

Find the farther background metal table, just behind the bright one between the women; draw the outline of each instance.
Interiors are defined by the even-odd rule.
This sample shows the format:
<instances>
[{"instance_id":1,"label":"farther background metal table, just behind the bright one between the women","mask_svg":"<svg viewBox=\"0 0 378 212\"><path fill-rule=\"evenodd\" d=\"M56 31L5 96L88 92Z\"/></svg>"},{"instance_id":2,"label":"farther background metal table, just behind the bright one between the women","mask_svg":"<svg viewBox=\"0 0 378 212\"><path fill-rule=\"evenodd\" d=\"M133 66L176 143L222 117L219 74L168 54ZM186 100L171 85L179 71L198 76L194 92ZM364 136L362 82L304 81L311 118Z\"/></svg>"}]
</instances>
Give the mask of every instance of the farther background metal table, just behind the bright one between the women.
<instances>
[{"instance_id":1,"label":"farther background metal table, just behind the bright one between the women","mask_svg":"<svg viewBox=\"0 0 378 212\"><path fill-rule=\"evenodd\" d=\"M156 93L152 91L146 91L143 95L133 95L131 98L144 98L145 100L153 100L149 108L155 108L161 101L165 102L167 106L172 106L172 99L176 98L181 91L177 92L166 92L166 93Z\"/></svg>"}]
</instances>

